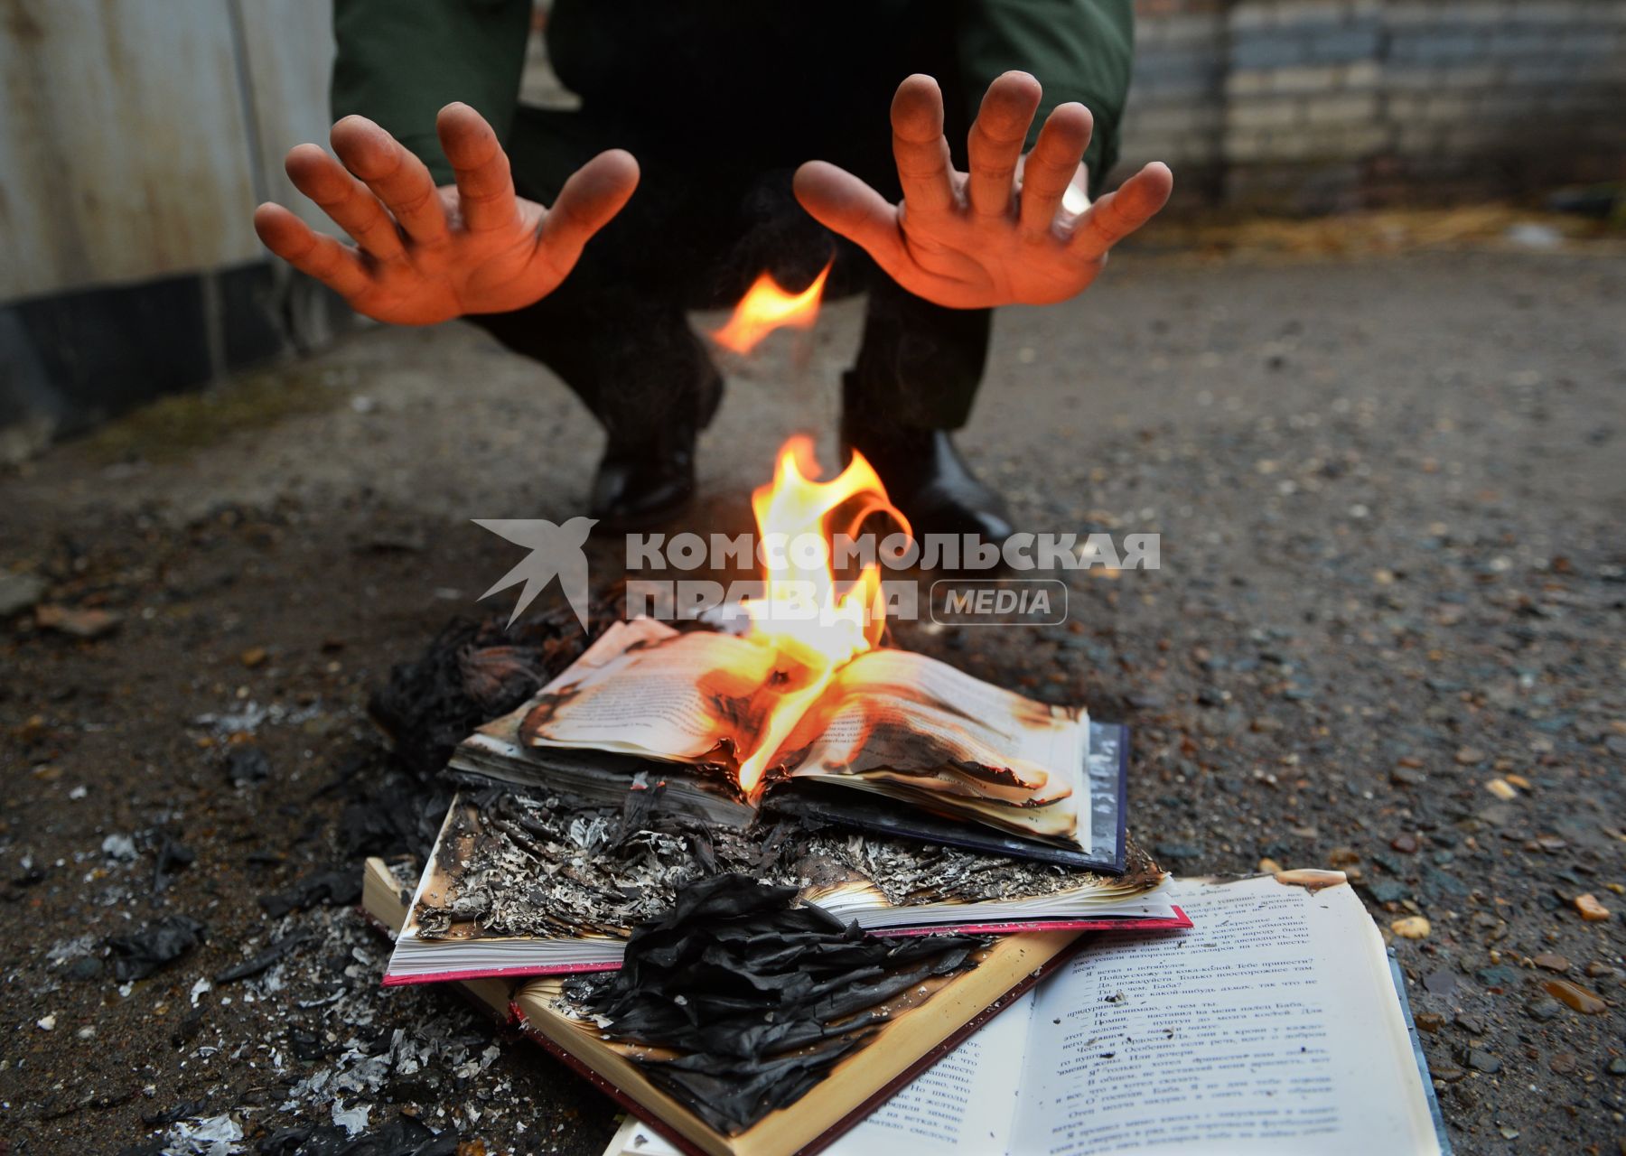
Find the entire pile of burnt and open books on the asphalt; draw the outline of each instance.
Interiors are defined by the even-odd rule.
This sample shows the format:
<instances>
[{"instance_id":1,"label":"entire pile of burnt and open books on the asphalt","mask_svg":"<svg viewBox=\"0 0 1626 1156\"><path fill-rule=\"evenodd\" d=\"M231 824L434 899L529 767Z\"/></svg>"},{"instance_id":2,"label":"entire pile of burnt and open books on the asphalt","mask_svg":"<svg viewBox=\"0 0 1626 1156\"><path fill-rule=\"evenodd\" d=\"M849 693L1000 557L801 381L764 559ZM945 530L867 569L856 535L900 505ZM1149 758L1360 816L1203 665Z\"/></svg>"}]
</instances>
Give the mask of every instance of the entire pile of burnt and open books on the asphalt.
<instances>
[{"instance_id":1,"label":"entire pile of burnt and open books on the asphalt","mask_svg":"<svg viewBox=\"0 0 1626 1156\"><path fill-rule=\"evenodd\" d=\"M369 860L364 906L397 933L387 984L455 984L631 1112L606 1156L1446 1151L1343 878L1171 880L1127 836L1125 751L922 655L870 650L805 693L748 637L624 623L460 745L426 870L408 888ZM720 870L850 935L985 946L730 1130L566 979L618 969Z\"/></svg>"}]
</instances>

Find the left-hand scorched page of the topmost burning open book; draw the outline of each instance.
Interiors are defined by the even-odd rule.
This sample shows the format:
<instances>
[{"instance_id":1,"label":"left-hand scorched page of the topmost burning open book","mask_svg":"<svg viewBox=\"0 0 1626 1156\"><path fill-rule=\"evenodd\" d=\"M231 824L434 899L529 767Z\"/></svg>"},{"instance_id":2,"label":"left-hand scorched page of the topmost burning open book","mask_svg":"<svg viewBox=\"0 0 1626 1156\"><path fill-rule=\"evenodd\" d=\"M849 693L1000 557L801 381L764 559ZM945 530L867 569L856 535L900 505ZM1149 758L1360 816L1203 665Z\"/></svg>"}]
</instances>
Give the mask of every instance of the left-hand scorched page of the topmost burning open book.
<instances>
[{"instance_id":1,"label":"left-hand scorched page of the topmost burning open book","mask_svg":"<svg viewBox=\"0 0 1626 1156\"><path fill-rule=\"evenodd\" d=\"M520 724L522 741L730 761L754 750L782 693L771 680L776 662L784 665L756 642L641 618L541 689Z\"/></svg>"}]
</instances>

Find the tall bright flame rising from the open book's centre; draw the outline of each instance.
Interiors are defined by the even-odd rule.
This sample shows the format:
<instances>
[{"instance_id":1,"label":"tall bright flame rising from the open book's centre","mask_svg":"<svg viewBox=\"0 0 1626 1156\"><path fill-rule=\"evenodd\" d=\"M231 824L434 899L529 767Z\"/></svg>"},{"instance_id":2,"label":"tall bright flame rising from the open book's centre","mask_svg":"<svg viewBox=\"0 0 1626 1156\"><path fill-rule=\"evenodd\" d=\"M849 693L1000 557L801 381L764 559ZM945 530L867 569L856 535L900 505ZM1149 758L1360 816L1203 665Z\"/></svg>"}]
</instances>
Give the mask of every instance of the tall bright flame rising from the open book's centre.
<instances>
[{"instance_id":1,"label":"tall bright flame rising from the open book's centre","mask_svg":"<svg viewBox=\"0 0 1626 1156\"><path fill-rule=\"evenodd\" d=\"M888 501L886 486L857 450L831 481L815 481L816 476L813 442L792 437L779 450L774 480L751 493L764 551L764 597L745 606L750 636L805 673L798 671L792 689L779 698L756 751L740 764L740 790L746 797L759 792L769 756L803 711L818 701L842 663L880 642L886 628L880 566L868 563L857 580L839 589L834 537L857 537L872 514L891 517L909 533L907 519Z\"/></svg>"}]
</instances>

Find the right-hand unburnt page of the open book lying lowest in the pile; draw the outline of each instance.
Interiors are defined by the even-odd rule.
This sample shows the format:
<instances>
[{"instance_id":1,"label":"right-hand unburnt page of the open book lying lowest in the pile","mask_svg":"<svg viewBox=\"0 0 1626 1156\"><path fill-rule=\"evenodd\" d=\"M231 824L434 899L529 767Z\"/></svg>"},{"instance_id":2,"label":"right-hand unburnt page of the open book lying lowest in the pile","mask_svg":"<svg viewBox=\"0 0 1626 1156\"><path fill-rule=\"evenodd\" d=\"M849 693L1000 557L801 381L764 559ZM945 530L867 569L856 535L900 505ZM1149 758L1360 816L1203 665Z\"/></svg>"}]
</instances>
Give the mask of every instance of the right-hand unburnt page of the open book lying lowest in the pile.
<instances>
[{"instance_id":1,"label":"right-hand unburnt page of the open book lying lowest in the pile","mask_svg":"<svg viewBox=\"0 0 1626 1156\"><path fill-rule=\"evenodd\" d=\"M1182 881L1184 933L1093 938L1039 992L1013 1153L1437 1153L1348 884Z\"/></svg>"}]
</instances>

